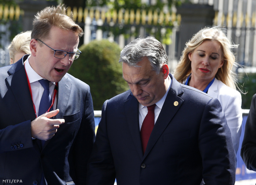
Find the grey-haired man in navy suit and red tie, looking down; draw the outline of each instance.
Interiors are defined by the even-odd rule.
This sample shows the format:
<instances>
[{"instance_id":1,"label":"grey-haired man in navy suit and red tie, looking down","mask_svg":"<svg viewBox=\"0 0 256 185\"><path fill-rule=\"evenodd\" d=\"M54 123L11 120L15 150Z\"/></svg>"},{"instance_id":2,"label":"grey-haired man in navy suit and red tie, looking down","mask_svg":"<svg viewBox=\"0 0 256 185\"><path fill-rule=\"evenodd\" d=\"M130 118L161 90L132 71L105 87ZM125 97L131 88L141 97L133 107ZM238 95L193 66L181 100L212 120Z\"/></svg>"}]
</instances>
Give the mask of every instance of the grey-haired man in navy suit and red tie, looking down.
<instances>
[{"instance_id":1,"label":"grey-haired man in navy suit and red tie, looking down","mask_svg":"<svg viewBox=\"0 0 256 185\"><path fill-rule=\"evenodd\" d=\"M133 40L119 62L131 90L102 107L88 185L233 185L235 152L219 101L178 83L153 37Z\"/></svg>"}]
</instances>

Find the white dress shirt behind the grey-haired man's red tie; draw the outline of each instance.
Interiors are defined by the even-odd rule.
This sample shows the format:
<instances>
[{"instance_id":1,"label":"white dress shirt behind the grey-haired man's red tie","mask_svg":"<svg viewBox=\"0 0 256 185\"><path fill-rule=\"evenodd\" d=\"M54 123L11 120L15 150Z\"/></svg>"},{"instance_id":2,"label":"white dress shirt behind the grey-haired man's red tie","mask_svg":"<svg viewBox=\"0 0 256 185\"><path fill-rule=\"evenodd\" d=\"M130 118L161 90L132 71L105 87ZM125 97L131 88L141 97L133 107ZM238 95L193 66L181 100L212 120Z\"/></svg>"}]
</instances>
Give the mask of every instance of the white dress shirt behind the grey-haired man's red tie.
<instances>
[{"instance_id":1,"label":"white dress shirt behind the grey-haired man's red tie","mask_svg":"<svg viewBox=\"0 0 256 185\"><path fill-rule=\"evenodd\" d=\"M170 76L168 76L168 84L169 88L166 91L166 94L164 94L164 96L161 98L161 100L159 100L158 102L156 102L156 107L155 107L155 123L156 120L161 112L161 109L163 107L164 101L166 100L166 96L169 92L169 89L171 87L171 78ZM139 130L141 130L141 126L143 123L143 120L145 119L146 115L148 114L148 108L146 106L143 106L141 103L139 103Z\"/></svg>"}]
</instances>

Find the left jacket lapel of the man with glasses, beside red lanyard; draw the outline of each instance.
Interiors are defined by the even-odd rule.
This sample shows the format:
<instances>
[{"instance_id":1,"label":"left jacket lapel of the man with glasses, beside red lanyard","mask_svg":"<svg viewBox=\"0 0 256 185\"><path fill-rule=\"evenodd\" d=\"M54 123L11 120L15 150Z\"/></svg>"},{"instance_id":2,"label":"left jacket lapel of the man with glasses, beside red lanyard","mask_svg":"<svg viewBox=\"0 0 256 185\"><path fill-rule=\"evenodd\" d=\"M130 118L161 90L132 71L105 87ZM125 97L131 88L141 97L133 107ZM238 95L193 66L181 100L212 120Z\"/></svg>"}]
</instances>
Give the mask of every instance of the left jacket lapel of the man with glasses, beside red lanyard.
<instances>
[{"instance_id":1,"label":"left jacket lapel of the man with glasses, beside red lanyard","mask_svg":"<svg viewBox=\"0 0 256 185\"><path fill-rule=\"evenodd\" d=\"M8 71L10 76L6 78L6 81L13 92L15 100L23 114L24 120L33 120L36 119L36 115L23 63L28 56L29 55L25 55L22 59L11 66Z\"/></svg>"}]
</instances>

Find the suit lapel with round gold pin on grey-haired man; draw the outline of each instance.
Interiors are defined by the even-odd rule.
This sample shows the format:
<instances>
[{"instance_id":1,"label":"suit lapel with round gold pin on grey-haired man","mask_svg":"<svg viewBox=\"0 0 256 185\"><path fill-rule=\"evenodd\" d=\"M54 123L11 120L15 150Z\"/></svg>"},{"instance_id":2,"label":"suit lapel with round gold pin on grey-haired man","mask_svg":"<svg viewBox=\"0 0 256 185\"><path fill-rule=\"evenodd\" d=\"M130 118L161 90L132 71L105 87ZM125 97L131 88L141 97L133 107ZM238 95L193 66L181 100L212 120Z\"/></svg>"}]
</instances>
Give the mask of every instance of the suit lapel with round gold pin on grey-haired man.
<instances>
[{"instance_id":1,"label":"suit lapel with round gold pin on grey-haired man","mask_svg":"<svg viewBox=\"0 0 256 185\"><path fill-rule=\"evenodd\" d=\"M179 110L181 104L183 103L183 100L178 96L184 92L181 84L177 82L176 79L173 78L171 75L170 77L172 78L171 87L167 94L166 100L164 101L162 110L155 123L154 129L152 130L152 133L150 135L144 158L150 152L152 147L154 147L155 143L160 138L160 136L170 123L171 119L174 117L174 115Z\"/></svg>"}]
</instances>

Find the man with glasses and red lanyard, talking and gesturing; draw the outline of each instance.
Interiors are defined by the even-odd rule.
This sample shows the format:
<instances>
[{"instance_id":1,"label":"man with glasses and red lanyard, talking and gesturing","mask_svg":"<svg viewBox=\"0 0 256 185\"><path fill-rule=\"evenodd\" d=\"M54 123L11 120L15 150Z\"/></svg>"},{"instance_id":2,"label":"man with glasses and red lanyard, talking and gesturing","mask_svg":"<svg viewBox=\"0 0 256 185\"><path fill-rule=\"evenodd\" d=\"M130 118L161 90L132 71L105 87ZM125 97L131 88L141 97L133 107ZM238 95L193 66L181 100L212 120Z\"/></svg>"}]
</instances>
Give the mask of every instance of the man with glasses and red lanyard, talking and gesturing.
<instances>
[{"instance_id":1,"label":"man with glasses and red lanyard, talking and gesturing","mask_svg":"<svg viewBox=\"0 0 256 185\"><path fill-rule=\"evenodd\" d=\"M0 68L0 184L85 184L93 103L89 86L67 74L83 31L65 11L38 12L31 55Z\"/></svg>"}]
</instances>

